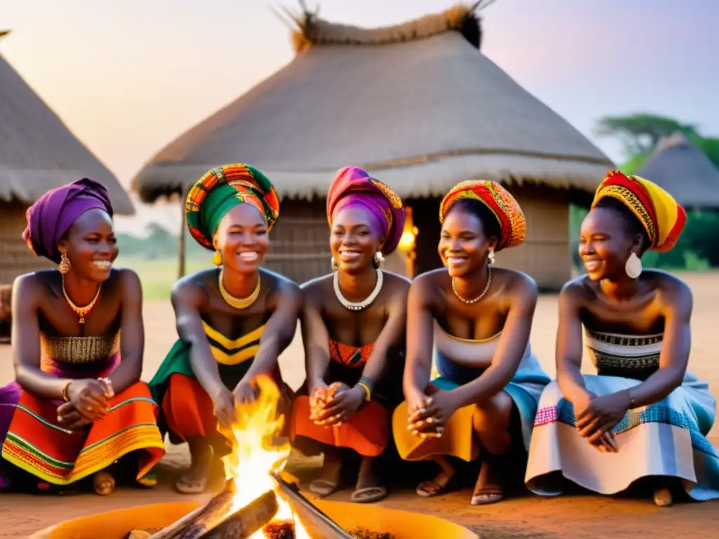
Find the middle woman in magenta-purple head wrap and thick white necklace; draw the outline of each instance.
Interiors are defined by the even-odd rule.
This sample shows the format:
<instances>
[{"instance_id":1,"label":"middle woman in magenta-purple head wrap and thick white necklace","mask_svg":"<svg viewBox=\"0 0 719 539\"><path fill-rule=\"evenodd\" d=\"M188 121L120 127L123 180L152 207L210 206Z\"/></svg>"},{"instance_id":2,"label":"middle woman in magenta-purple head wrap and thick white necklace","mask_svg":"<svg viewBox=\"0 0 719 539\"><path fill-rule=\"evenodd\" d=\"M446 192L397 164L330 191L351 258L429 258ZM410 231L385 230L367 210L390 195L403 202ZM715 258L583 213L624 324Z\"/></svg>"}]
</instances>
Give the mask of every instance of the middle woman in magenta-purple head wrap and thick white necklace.
<instances>
[{"instance_id":1,"label":"middle woman in magenta-purple head wrap and thick white necklace","mask_svg":"<svg viewBox=\"0 0 719 539\"><path fill-rule=\"evenodd\" d=\"M352 500L376 502L387 495L375 458L388 445L389 410L401 399L409 288L380 265L397 248L405 212L387 185L344 167L329 188L327 219L334 275L303 285L307 381L291 436L321 444L324 466L311 492L338 489L347 448L362 456Z\"/></svg>"}]
</instances>

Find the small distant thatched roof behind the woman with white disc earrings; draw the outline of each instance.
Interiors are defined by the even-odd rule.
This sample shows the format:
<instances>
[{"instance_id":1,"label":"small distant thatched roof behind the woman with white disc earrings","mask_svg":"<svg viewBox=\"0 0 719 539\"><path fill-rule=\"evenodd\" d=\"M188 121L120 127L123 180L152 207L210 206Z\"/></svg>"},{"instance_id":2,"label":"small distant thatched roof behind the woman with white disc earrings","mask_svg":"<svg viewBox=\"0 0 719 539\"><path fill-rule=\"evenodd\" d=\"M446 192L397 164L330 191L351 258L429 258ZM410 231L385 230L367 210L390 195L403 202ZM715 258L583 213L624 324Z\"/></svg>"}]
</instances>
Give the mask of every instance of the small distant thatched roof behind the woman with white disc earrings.
<instances>
[{"instance_id":1,"label":"small distant thatched roof behind the woman with white disc earrings","mask_svg":"<svg viewBox=\"0 0 719 539\"><path fill-rule=\"evenodd\" d=\"M636 175L668 190L684 208L719 209L719 170L684 133L660 140Z\"/></svg>"}]
</instances>

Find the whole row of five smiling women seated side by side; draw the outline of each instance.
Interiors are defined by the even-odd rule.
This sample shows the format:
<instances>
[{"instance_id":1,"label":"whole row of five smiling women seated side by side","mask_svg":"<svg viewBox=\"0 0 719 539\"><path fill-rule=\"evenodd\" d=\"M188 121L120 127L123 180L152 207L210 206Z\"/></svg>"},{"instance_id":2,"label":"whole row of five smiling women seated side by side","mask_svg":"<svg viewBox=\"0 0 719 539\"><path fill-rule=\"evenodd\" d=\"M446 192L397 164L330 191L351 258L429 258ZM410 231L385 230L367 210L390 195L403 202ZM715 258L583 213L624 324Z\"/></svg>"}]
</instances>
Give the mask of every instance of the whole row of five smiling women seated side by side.
<instances>
[{"instance_id":1,"label":"whole row of five smiling women seated side by side","mask_svg":"<svg viewBox=\"0 0 719 539\"><path fill-rule=\"evenodd\" d=\"M112 267L106 189L78 180L29 208L23 237L58 268L14 284L16 382L0 388L0 489L151 486L168 434L192 457L175 487L203 492L228 450L222 425L257 398L265 375L281 390L293 445L324 453L309 485L319 496L341 487L356 457L352 499L382 499L380 464L395 450L436 463L416 488L423 497L462 479L458 462L479 462L473 505L503 499L509 472L525 465L536 494L646 482L658 505L679 489L719 498L719 453L706 438L715 400L687 371L692 294L641 266L647 249L674 246L685 221L657 185L610 171L597 188L580 232L587 275L559 295L556 381L529 344L535 283L493 265L526 236L521 208L498 183L447 193L444 268L413 281L382 269L405 211L364 170L342 168L329 188L329 275L298 286L262 269L279 213L270 180L250 165L216 167L193 186L188 229L217 267L175 283L179 338L145 384L142 289L132 270ZM278 358L298 320L306 381L294 393ZM583 341L596 375L581 372Z\"/></svg>"}]
</instances>

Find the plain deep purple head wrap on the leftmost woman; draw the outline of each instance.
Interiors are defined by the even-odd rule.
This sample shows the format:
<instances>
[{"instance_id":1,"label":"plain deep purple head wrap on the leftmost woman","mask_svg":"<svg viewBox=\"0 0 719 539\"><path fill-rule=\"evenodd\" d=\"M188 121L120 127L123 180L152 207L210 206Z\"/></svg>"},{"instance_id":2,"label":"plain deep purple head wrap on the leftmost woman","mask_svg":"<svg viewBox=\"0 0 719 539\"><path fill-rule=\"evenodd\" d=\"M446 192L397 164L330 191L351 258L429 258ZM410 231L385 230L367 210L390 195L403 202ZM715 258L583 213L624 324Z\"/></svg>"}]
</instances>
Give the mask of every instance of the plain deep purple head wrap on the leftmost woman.
<instances>
[{"instance_id":1,"label":"plain deep purple head wrap on the leftmost woman","mask_svg":"<svg viewBox=\"0 0 719 539\"><path fill-rule=\"evenodd\" d=\"M59 263L60 239L83 213L94 209L113 215L107 189L95 180L83 178L51 189L27 208L27 227L22 239L38 257Z\"/></svg>"}]
</instances>

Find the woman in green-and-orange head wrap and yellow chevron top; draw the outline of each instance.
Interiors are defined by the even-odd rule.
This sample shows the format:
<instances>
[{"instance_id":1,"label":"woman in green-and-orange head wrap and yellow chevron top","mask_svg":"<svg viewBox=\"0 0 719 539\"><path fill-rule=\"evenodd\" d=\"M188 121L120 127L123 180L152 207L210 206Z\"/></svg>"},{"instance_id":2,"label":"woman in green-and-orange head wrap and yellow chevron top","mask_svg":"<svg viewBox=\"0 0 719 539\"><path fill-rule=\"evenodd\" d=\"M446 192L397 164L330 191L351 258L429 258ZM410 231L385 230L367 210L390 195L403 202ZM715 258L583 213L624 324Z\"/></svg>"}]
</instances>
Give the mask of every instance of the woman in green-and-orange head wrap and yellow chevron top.
<instances>
[{"instance_id":1,"label":"woman in green-and-orange head wrap and yellow chevron top","mask_svg":"<svg viewBox=\"0 0 719 539\"><path fill-rule=\"evenodd\" d=\"M278 357L292 342L302 295L295 283L260 269L279 214L273 185L250 165L214 168L188 194L190 234L214 250L219 267L175 283L180 338L150 382L170 441L190 446L179 492L204 492L211 455L226 451L218 421L231 425L235 403L255 400L257 375L284 388Z\"/></svg>"}]
</instances>

